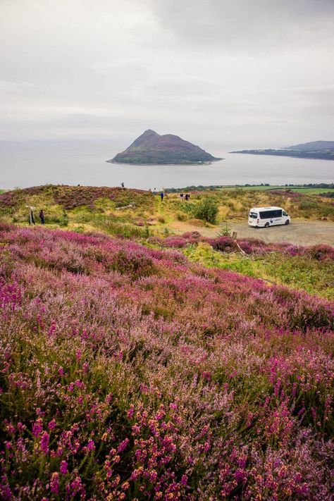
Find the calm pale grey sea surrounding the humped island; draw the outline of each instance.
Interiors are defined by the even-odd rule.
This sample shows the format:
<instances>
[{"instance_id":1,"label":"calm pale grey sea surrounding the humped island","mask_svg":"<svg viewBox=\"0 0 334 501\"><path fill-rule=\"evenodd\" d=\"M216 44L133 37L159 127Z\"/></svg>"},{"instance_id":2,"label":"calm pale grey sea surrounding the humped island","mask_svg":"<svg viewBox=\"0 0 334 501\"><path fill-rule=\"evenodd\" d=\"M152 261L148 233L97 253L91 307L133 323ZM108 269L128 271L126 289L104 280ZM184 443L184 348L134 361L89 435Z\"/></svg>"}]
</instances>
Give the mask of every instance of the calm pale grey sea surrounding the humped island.
<instances>
[{"instance_id":1,"label":"calm pale grey sea surrounding the humped island","mask_svg":"<svg viewBox=\"0 0 334 501\"><path fill-rule=\"evenodd\" d=\"M190 185L332 183L334 162L209 151L224 160L210 166L130 166L106 163L120 151L101 143L0 144L0 188L35 185L104 185L160 190ZM216 151L215 151L216 150Z\"/></svg>"}]
</instances>

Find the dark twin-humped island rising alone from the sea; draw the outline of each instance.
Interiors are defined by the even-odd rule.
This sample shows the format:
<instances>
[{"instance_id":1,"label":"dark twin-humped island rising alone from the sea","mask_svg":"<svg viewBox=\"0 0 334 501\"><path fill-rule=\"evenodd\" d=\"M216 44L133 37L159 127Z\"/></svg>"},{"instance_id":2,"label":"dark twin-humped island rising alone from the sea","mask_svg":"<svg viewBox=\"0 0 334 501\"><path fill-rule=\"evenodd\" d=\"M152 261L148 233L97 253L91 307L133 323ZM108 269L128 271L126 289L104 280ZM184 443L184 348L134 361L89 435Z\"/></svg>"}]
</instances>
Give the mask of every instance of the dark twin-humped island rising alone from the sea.
<instances>
[{"instance_id":1,"label":"dark twin-humped island rising alone from the sea","mask_svg":"<svg viewBox=\"0 0 334 501\"><path fill-rule=\"evenodd\" d=\"M130 146L107 160L110 163L135 163L161 165L168 164L206 164L222 160L204 149L185 141L173 134L159 135L148 129Z\"/></svg>"}]
</instances>

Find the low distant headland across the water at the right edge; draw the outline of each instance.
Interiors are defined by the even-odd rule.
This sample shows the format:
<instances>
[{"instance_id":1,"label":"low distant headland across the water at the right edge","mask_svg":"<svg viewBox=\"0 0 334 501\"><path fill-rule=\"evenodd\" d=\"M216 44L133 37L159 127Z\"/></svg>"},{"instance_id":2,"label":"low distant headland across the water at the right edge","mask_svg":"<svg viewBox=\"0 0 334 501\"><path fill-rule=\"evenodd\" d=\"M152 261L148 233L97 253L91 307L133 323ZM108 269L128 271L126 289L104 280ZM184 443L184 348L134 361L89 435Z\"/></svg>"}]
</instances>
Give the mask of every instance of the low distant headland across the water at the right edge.
<instances>
[{"instance_id":1,"label":"low distant headland across the water at the right edge","mask_svg":"<svg viewBox=\"0 0 334 501\"><path fill-rule=\"evenodd\" d=\"M311 141L279 149L242 149L230 153L292 156L299 159L334 160L334 141Z\"/></svg>"}]
</instances>

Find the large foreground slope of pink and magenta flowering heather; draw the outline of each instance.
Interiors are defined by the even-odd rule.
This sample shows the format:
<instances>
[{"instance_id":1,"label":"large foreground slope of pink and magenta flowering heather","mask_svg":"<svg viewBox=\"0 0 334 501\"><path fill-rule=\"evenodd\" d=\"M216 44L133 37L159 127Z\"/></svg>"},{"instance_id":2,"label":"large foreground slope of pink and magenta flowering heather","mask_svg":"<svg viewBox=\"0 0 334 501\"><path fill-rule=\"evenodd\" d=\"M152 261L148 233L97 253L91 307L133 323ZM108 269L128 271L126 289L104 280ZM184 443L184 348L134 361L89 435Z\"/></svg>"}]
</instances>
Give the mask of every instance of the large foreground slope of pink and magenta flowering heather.
<instances>
[{"instance_id":1,"label":"large foreground slope of pink and magenta flowering heather","mask_svg":"<svg viewBox=\"0 0 334 501\"><path fill-rule=\"evenodd\" d=\"M105 235L0 242L1 499L332 499L333 303Z\"/></svg>"}]
</instances>

